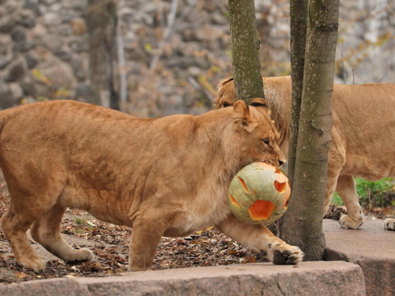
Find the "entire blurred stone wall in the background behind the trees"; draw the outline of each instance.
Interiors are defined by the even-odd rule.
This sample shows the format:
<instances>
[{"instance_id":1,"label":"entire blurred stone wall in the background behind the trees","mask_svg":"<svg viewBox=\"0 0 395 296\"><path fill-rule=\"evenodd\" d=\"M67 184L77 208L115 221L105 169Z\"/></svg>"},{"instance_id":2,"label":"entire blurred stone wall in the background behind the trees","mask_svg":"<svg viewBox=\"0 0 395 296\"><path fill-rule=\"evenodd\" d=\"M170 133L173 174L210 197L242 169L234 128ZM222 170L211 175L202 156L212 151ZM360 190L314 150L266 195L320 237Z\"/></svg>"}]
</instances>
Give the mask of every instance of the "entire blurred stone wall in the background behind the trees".
<instances>
[{"instance_id":1,"label":"entire blurred stone wall in the background behind the trees","mask_svg":"<svg viewBox=\"0 0 395 296\"><path fill-rule=\"evenodd\" d=\"M177 4L172 22L172 5ZM288 0L255 0L263 75L289 74ZM118 0L117 92L139 116L199 114L231 75L227 0ZM341 4L340 83L395 82L395 4ZM87 0L0 0L0 108L91 94ZM103 105L108 105L103 101Z\"/></svg>"}]
</instances>

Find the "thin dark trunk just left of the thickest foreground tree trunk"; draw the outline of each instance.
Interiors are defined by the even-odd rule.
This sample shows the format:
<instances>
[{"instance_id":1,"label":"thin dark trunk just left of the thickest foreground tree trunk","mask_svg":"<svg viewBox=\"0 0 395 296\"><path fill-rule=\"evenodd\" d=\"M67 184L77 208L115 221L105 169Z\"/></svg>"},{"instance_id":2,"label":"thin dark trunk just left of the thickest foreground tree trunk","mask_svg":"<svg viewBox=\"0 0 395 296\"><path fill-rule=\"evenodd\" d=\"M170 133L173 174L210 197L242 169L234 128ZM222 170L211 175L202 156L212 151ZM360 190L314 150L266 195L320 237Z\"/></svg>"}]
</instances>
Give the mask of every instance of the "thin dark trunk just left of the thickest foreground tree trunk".
<instances>
[{"instance_id":1,"label":"thin dark trunk just left of the thickest foreground tree trunk","mask_svg":"<svg viewBox=\"0 0 395 296\"><path fill-rule=\"evenodd\" d=\"M288 149L288 179L291 188L295 171L299 115L302 101L303 73L305 67L306 31L308 20L308 0L290 1L290 32L291 32L291 120L290 144Z\"/></svg>"}]
</instances>

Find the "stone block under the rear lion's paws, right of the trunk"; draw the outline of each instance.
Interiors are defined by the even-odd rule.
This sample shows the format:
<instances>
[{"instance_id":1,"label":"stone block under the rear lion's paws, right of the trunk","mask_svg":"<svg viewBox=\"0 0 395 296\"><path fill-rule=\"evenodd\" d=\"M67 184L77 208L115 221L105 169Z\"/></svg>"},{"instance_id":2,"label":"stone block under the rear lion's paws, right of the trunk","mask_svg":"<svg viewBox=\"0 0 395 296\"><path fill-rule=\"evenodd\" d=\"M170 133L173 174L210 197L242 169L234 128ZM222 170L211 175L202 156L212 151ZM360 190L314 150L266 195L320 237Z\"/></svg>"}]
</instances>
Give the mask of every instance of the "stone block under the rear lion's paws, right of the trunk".
<instances>
[{"instance_id":1,"label":"stone block under the rear lion's paws, right of the trunk","mask_svg":"<svg viewBox=\"0 0 395 296\"><path fill-rule=\"evenodd\" d=\"M383 220L365 221L357 229L342 229L324 220L325 260L344 260L361 266L369 296L395 295L395 232L383 229Z\"/></svg>"}]
</instances>

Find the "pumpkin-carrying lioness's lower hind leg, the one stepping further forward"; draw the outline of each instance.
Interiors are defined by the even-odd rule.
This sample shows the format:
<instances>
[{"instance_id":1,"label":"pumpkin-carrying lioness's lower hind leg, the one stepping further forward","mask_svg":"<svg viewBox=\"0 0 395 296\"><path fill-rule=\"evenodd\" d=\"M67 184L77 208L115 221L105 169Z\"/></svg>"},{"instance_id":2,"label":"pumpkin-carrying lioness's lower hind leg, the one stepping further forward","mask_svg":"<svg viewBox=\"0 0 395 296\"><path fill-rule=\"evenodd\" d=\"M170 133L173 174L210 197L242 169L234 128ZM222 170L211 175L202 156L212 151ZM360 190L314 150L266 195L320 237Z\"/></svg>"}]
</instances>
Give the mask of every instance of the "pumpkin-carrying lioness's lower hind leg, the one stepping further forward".
<instances>
[{"instance_id":1,"label":"pumpkin-carrying lioness's lower hind leg, the one stepping further forward","mask_svg":"<svg viewBox=\"0 0 395 296\"><path fill-rule=\"evenodd\" d=\"M32 238L68 264L88 261L94 256L92 251L74 249L60 234L60 223L65 210L65 207L55 204L40 219L37 219L30 230Z\"/></svg>"}]
</instances>

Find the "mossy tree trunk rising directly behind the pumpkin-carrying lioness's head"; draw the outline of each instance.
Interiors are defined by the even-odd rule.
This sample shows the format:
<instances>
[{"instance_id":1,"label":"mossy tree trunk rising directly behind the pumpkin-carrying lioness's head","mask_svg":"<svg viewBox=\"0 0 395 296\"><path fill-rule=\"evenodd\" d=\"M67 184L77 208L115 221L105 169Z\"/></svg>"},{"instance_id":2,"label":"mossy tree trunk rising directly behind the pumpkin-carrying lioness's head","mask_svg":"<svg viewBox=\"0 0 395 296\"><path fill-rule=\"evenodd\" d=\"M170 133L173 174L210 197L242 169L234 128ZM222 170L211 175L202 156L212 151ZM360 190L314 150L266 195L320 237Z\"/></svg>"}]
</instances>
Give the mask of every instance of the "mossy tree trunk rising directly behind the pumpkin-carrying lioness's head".
<instances>
[{"instance_id":1,"label":"mossy tree trunk rising directly behind the pumpkin-carrying lioness's head","mask_svg":"<svg viewBox=\"0 0 395 296\"><path fill-rule=\"evenodd\" d=\"M229 0L229 24L236 99L265 98L254 0Z\"/></svg>"}]
</instances>

